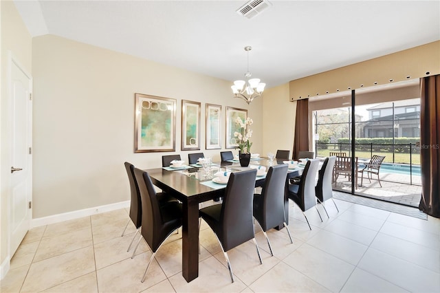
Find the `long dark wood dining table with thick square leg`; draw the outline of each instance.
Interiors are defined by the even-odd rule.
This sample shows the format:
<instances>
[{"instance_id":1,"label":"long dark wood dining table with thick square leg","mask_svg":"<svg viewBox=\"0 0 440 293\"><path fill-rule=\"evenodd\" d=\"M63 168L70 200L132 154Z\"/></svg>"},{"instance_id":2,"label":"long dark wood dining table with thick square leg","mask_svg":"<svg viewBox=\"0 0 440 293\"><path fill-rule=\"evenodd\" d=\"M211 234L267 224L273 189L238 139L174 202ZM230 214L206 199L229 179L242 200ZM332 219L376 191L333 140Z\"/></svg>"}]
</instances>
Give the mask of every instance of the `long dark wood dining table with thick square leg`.
<instances>
[{"instance_id":1,"label":"long dark wood dining table with thick square leg","mask_svg":"<svg viewBox=\"0 0 440 293\"><path fill-rule=\"evenodd\" d=\"M218 164L221 168L227 168L232 172L248 169L248 167L241 167L238 162ZM267 169L270 166L270 162L265 159L251 161L250 164L266 166ZM283 164L283 162L274 161L272 164ZM156 168L144 171L148 172L155 186L171 193L182 203L182 275L187 282L190 282L199 276L199 203L222 197L225 192L225 185L221 188L203 185L201 182L210 181L211 179L198 179L196 176L191 176L188 170L167 171L163 168ZM197 172L197 169L190 171ZM298 175L300 175L300 170L291 171L288 173L287 178ZM263 182L264 178L257 178L256 186L261 186ZM288 198L285 196L287 224L289 219L288 203Z\"/></svg>"}]
</instances>

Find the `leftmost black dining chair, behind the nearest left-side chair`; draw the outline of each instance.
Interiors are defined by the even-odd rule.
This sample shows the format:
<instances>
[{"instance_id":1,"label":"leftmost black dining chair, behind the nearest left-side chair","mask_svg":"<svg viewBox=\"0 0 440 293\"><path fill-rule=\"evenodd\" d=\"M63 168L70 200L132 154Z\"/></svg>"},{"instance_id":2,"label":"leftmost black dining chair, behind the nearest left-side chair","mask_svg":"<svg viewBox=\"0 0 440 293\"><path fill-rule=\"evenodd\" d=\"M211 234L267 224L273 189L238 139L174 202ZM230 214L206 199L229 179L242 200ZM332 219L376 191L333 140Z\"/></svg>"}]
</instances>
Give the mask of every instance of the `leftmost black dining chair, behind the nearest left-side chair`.
<instances>
[{"instance_id":1,"label":"leftmost black dining chair, behind the nearest left-side chair","mask_svg":"<svg viewBox=\"0 0 440 293\"><path fill-rule=\"evenodd\" d=\"M136 232L133 235L133 239L131 239L129 248L126 250L126 252L130 251L131 245L133 244L133 241L135 240L135 237L137 235L137 232L140 232L141 226L142 226L142 205L141 205L141 199L140 199L140 191L139 186L137 185L137 181L134 174L135 166L133 164L130 164L129 162L124 162L126 174L129 177L129 184L130 184L130 212L129 212L129 221L126 222L125 228L122 231L122 236L124 236L124 232L126 231L126 228L129 226L130 221L133 221L133 224L136 227ZM167 202L177 202L177 199L169 195L168 193L156 193L157 200L159 201L159 204L162 206L166 204ZM134 257L136 250L133 251L133 255L131 258Z\"/></svg>"}]
</instances>

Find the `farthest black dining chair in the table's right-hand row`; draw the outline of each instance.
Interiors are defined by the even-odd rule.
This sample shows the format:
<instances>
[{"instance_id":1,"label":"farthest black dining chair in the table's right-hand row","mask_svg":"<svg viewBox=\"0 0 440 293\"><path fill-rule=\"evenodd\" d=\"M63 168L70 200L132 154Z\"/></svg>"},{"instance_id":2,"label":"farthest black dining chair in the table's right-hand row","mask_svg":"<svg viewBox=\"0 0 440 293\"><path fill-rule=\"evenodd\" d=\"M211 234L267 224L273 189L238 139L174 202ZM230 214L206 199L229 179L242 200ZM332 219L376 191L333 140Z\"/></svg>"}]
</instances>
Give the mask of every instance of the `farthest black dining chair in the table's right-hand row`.
<instances>
[{"instance_id":1,"label":"farthest black dining chair in the table's right-hand row","mask_svg":"<svg viewBox=\"0 0 440 293\"><path fill-rule=\"evenodd\" d=\"M320 204L322 204L322 207L325 210L325 213L327 214L327 217L329 217L329 213L327 213L327 208L325 208L324 202L327 199L331 199L333 201L333 204L336 206L336 202L333 199L333 188L331 186L331 182L333 180L333 169L335 167L336 162L336 156L333 155L329 158L325 158L324 163L322 163L320 171L318 171L318 184L316 184L316 197L318 198L318 201ZM336 206L336 210L339 209L338 206Z\"/></svg>"}]
</instances>

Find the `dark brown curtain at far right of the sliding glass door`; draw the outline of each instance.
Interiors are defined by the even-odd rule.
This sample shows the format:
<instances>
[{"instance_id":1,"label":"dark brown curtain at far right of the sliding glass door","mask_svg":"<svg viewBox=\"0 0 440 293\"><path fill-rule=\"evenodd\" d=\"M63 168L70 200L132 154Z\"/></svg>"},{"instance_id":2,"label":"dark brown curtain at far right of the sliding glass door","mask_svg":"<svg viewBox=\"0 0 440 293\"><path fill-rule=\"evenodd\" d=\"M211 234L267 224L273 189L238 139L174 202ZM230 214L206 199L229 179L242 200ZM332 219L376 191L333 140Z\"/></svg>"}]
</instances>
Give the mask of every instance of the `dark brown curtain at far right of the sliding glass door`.
<instances>
[{"instance_id":1,"label":"dark brown curtain at far right of the sliding glass door","mask_svg":"<svg viewBox=\"0 0 440 293\"><path fill-rule=\"evenodd\" d=\"M421 78L420 158L421 200L419 210L440 217L440 75Z\"/></svg>"}]
</instances>

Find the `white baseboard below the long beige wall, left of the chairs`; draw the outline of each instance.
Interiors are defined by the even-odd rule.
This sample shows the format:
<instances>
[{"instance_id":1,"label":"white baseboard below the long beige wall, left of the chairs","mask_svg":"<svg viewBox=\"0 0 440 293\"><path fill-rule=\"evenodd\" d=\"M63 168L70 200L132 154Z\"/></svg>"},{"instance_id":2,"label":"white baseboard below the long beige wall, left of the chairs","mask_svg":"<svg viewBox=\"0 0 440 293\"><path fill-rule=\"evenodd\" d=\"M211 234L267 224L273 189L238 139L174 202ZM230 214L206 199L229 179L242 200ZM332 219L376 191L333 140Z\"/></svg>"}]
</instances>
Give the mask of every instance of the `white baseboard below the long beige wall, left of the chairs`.
<instances>
[{"instance_id":1,"label":"white baseboard below the long beige wall, left of the chairs","mask_svg":"<svg viewBox=\"0 0 440 293\"><path fill-rule=\"evenodd\" d=\"M81 217L87 217L100 213L110 212L111 210L119 210L120 208L127 208L129 206L130 206L130 201L127 200L126 202L117 202L115 204L107 204L105 206L96 206L94 208L85 208L83 210L75 210L73 212L36 218L30 221L30 228L32 229L35 227L45 226L48 224L55 224L61 221L78 219Z\"/></svg>"}]
</instances>

